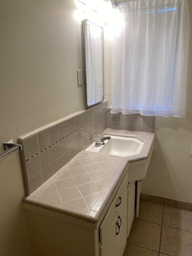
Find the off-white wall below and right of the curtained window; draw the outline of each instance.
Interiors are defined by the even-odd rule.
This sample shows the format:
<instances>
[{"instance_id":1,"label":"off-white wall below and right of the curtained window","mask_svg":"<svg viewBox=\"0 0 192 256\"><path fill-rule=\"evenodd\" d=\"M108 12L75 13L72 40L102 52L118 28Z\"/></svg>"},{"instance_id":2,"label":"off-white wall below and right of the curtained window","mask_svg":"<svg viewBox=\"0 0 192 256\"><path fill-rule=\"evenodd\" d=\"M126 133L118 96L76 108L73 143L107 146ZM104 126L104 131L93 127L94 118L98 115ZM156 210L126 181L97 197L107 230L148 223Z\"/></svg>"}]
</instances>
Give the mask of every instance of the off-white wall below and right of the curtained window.
<instances>
[{"instance_id":1,"label":"off-white wall below and right of the curtained window","mask_svg":"<svg viewBox=\"0 0 192 256\"><path fill-rule=\"evenodd\" d=\"M192 203L192 1L185 118L155 118L156 141L142 192Z\"/></svg>"}]
</instances>

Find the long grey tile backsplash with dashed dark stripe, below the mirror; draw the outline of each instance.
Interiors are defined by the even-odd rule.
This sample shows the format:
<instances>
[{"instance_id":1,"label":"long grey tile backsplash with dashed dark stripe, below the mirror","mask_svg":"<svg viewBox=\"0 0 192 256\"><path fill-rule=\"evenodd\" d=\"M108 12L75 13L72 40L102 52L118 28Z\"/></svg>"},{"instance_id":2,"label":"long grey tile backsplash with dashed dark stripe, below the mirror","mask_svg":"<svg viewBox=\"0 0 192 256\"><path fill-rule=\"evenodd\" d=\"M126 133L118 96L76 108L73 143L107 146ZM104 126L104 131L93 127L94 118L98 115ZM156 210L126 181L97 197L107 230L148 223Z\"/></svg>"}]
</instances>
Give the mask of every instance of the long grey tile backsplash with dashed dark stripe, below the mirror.
<instances>
[{"instance_id":1,"label":"long grey tile backsplash with dashed dark stripe, below the mirror","mask_svg":"<svg viewBox=\"0 0 192 256\"><path fill-rule=\"evenodd\" d=\"M26 195L30 195L107 128L104 101L19 138Z\"/></svg>"}]
</instances>

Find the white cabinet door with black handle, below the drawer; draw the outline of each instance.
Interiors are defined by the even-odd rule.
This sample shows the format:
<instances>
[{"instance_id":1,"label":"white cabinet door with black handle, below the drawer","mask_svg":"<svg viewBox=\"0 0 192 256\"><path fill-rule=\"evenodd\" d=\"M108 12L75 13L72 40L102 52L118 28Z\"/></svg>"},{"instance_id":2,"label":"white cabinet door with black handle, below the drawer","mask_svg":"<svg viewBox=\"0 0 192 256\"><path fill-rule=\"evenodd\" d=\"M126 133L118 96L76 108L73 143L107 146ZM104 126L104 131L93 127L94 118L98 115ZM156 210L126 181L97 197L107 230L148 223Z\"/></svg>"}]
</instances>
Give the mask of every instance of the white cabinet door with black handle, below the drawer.
<instances>
[{"instance_id":1,"label":"white cabinet door with black handle, below the drawer","mask_svg":"<svg viewBox=\"0 0 192 256\"><path fill-rule=\"evenodd\" d=\"M100 246L101 256L122 256L127 242L127 189L108 234Z\"/></svg>"}]
</instances>

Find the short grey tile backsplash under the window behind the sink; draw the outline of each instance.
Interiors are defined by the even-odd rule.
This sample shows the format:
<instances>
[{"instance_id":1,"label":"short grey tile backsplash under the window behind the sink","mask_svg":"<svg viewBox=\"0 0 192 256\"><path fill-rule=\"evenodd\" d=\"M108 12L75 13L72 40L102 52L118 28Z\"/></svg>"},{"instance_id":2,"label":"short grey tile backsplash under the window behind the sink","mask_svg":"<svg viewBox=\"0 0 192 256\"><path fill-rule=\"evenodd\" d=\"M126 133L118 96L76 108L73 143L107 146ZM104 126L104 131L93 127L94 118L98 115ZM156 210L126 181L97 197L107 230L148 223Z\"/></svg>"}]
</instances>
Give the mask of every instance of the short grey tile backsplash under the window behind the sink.
<instances>
[{"instance_id":1,"label":"short grey tile backsplash under the window behind the sink","mask_svg":"<svg viewBox=\"0 0 192 256\"><path fill-rule=\"evenodd\" d=\"M111 114L110 108L108 108L107 128L139 132L154 132L154 116L121 113Z\"/></svg>"}]
</instances>

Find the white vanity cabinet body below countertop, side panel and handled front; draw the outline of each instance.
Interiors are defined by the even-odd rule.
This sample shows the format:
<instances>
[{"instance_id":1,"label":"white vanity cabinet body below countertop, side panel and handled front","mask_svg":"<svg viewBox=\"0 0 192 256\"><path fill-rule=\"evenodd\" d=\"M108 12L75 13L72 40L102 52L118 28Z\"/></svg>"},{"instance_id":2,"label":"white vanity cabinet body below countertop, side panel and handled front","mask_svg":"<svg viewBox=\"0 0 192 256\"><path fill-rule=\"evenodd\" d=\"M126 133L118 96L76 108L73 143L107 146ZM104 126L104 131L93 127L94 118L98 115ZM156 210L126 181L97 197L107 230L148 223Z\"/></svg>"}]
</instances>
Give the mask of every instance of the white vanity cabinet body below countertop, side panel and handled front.
<instances>
[{"instance_id":1,"label":"white vanity cabinet body below countertop, side panel and handled front","mask_svg":"<svg viewBox=\"0 0 192 256\"><path fill-rule=\"evenodd\" d=\"M130 210L128 174L112 196L98 223L25 204L32 256L123 256Z\"/></svg>"}]
</instances>

